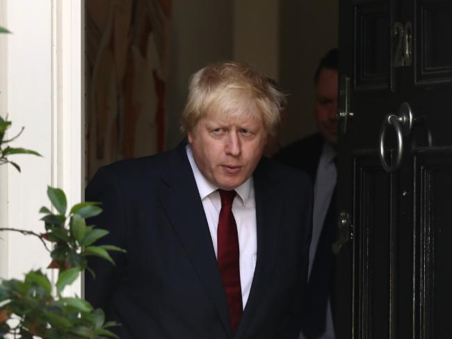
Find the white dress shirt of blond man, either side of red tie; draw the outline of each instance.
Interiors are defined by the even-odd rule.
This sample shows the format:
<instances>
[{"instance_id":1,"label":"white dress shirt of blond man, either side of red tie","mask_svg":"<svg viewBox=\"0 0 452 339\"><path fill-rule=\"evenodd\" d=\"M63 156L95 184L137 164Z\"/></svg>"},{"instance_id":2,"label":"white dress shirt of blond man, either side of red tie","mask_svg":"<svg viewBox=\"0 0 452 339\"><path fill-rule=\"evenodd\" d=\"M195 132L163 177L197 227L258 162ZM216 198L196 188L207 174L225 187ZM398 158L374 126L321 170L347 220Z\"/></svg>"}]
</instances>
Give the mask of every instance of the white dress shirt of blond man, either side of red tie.
<instances>
[{"instance_id":1,"label":"white dress shirt of blond man, either side of red tie","mask_svg":"<svg viewBox=\"0 0 452 339\"><path fill-rule=\"evenodd\" d=\"M193 158L190 145L186 146L186 152L195 176L197 190L200 192L207 224L209 224L213 249L217 256L217 228L221 209L220 193L217 191L218 187L210 183L200 172L195 163L195 158ZM256 201L252 178L242 183L235 191L237 194L232 203L232 213L236 220L237 234L239 235L240 284L242 304L245 308L257 261Z\"/></svg>"}]
</instances>

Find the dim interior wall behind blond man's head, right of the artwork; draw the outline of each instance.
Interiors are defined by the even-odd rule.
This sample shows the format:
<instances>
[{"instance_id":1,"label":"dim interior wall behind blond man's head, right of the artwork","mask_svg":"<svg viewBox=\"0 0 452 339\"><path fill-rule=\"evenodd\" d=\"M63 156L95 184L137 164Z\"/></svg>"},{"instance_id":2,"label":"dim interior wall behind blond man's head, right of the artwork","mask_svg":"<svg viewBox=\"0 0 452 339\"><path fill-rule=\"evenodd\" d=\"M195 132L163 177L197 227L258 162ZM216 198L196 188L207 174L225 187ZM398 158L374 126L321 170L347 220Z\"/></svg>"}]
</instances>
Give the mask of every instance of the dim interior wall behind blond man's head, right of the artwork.
<instances>
[{"instance_id":1,"label":"dim interior wall behind blond man's head, right of the artwork","mask_svg":"<svg viewBox=\"0 0 452 339\"><path fill-rule=\"evenodd\" d=\"M183 138L179 117L193 72L218 60L244 60L289 94L283 144L316 131L314 69L337 46L337 1L172 0L166 81L166 149Z\"/></svg>"}]
</instances>

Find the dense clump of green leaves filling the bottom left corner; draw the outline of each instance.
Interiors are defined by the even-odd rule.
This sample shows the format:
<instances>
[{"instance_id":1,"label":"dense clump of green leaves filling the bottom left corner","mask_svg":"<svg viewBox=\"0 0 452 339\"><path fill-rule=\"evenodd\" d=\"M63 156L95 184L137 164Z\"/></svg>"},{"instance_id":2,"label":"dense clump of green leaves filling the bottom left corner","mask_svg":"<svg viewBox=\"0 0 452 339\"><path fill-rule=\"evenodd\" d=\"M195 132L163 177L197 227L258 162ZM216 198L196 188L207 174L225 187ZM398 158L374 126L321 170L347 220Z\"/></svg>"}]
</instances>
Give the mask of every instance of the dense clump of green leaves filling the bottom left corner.
<instances>
[{"instance_id":1,"label":"dense clump of green leaves filling the bottom left corner","mask_svg":"<svg viewBox=\"0 0 452 339\"><path fill-rule=\"evenodd\" d=\"M66 271L67 272L67 271ZM0 338L11 333L20 338L118 338L104 323L102 310L93 310L77 297L51 295L51 283L40 270L24 281L6 280L0 286ZM15 322L6 322L15 320Z\"/></svg>"}]
</instances>

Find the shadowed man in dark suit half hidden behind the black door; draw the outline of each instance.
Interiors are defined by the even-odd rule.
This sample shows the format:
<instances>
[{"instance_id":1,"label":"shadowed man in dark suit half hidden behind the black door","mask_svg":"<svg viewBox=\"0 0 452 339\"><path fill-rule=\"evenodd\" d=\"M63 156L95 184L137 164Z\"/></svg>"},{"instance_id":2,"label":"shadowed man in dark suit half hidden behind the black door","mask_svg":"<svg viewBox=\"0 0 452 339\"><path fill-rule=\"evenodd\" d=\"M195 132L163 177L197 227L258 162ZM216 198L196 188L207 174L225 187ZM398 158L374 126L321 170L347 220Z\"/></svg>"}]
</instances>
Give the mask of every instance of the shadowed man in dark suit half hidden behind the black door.
<instances>
[{"instance_id":1,"label":"shadowed man in dark suit half hidden behind the black door","mask_svg":"<svg viewBox=\"0 0 452 339\"><path fill-rule=\"evenodd\" d=\"M332 339L331 295L334 279L332 244L337 238L335 190L337 170L337 49L321 60L314 77L315 117L319 133L282 149L275 158L307 172L314 183L312 243L309 280L300 338Z\"/></svg>"}]
</instances>

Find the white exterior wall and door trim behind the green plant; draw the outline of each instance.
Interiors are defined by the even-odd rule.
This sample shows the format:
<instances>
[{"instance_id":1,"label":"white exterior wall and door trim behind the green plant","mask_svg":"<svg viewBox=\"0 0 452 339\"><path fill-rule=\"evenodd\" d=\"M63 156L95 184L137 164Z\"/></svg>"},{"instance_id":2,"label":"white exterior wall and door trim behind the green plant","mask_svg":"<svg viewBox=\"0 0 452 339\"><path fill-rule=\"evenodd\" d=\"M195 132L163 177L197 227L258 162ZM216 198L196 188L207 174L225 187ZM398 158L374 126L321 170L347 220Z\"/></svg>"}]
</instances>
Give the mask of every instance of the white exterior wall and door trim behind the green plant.
<instances>
[{"instance_id":1,"label":"white exterior wall and door trim behind the green plant","mask_svg":"<svg viewBox=\"0 0 452 339\"><path fill-rule=\"evenodd\" d=\"M68 204L82 199L82 6L80 0L0 0L0 25L13 32L0 37L0 114L13 122L10 137L25 127L13 147L43 156L15 156L21 174L1 168L0 226L42 233L38 210L49 206L47 185L63 188ZM1 278L49 264L38 239L0 237Z\"/></svg>"}]
</instances>

